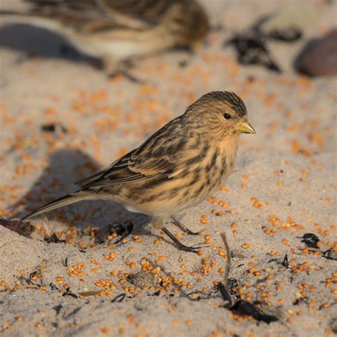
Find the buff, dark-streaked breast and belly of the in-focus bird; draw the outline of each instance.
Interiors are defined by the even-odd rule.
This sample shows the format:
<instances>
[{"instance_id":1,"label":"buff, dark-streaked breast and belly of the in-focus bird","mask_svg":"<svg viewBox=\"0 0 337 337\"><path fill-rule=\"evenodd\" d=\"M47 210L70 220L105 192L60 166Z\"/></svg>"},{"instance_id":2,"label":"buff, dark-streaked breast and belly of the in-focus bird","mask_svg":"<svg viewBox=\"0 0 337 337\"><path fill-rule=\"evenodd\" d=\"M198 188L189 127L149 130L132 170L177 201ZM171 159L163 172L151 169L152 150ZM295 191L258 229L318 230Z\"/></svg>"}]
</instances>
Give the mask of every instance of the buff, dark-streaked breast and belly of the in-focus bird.
<instances>
[{"instance_id":1,"label":"buff, dark-streaked breast and belly of the in-focus bird","mask_svg":"<svg viewBox=\"0 0 337 337\"><path fill-rule=\"evenodd\" d=\"M232 170L237 145L222 145L207 146L207 151L203 146L171 176L124 184L117 202L149 215L174 214L197 205L218 191Z\"/></svg>"}]
</instances>

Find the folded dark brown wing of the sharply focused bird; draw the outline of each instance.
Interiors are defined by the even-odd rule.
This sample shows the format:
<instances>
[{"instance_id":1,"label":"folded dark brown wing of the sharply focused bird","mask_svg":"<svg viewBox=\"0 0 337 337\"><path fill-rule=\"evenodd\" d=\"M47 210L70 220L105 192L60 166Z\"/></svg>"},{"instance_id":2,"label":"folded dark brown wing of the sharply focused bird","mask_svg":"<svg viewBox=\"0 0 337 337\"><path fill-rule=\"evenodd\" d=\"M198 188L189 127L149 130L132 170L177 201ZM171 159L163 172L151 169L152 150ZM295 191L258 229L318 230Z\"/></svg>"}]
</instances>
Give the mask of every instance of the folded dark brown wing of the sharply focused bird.
<instances>
[{"instance_id":1,"label":"folded dark brown wing of the sharply focused bird","mask_svg":"<svg viewBox=\"0 0 337 337\"><path fill-rule=\"evenodd\" d=\"M179 118L179 117L178 117ZM174 137L174 135L179 137ZM181 167L188 146L178 119L153 134L139 148L114 161L107 169L80 181L82 188L126 183L156 176L172 176Z\"/></svg>"}]
</instances>

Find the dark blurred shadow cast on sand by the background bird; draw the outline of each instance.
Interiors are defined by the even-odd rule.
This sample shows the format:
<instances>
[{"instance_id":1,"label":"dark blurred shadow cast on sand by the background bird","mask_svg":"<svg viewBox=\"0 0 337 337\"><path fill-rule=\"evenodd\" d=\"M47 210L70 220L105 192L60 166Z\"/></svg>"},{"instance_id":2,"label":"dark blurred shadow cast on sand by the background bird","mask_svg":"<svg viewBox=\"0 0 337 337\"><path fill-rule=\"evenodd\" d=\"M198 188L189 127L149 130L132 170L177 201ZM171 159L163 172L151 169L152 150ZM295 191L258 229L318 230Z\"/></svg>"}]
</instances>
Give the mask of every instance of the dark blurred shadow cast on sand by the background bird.
<instances>
[{"instance_id":1,"label":"dark blurred shadow cast on sand by the background bird","mask_svg":"<svg viewBox=\"0 0 337 337\"><path fill-rule=\"evenodd\" d=\"M18 58L17 62L40 56L73 63L84 62L102 68L100 60L80 53L62 36L25 23L6 23L1 26L0 47L21 51L22 58Z\"/></svg>"}]
</instances>

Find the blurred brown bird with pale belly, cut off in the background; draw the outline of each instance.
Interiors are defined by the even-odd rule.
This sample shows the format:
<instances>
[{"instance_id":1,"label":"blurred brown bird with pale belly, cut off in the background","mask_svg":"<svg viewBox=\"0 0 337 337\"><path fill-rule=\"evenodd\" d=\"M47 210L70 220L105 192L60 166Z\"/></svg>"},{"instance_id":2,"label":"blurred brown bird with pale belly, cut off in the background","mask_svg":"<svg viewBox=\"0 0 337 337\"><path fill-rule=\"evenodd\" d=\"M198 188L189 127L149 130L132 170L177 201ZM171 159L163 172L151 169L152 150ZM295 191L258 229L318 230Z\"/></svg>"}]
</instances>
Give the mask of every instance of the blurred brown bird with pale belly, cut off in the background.
<instances>
[{"instance_id":1,"label":"blurred brown bird with pale belly, cut off in the background","mask_svg":"<svg viewBox=\"0 0 337 337\"><path fill-rule=\"evenodd\" d=\"M123 60L174 47L196 48L210 30L195 0L26 0L24 12L0 11L11 22L46 28L82 53L100 58L108 74Z\"/></svg>"}]
</instances>

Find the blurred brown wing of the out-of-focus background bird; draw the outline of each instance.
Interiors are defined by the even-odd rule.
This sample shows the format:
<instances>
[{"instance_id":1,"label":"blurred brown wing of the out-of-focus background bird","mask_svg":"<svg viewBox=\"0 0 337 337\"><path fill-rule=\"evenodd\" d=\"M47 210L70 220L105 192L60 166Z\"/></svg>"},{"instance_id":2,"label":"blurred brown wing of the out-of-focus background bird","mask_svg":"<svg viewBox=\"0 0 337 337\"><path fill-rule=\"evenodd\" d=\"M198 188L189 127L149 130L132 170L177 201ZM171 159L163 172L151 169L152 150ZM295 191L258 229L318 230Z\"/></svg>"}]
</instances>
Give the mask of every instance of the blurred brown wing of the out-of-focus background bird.
<instances>
[{"instance_id":1,"label":"blurred brown wing of the out-of-focus background bird","mask_svg":"<svg viewBox=\"0 0 337 337\"><path fill-rule=\"evenodd\" d=\"M45 16L82 31L144 29L161 22L177 0L26 0L31 15Z\"/></svg>"}]
</instances>

